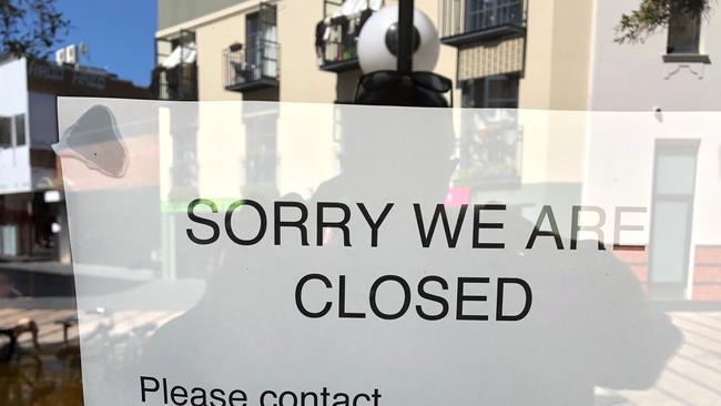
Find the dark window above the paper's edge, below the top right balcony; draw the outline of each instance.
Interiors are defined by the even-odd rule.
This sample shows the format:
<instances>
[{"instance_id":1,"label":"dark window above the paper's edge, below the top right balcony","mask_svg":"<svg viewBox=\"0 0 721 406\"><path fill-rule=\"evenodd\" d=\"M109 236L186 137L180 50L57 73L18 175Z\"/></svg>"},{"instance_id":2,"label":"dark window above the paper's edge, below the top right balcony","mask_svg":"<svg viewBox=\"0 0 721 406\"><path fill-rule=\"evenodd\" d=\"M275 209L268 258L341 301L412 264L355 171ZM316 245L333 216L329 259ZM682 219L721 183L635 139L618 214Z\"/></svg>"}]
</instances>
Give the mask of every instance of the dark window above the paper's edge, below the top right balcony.
<instances>
[{"instance_id":1,"label":"dark window above the paper's edge, below the top right balcony","mask_svg":"<svg viewBox=\"0 0 721 406\"><path fill-rule=\"evenodd\" d=\"M499 74L468 80L463 84L463 106L516 109L518 79L517 74Z\"/></svg>"}]
</instances>

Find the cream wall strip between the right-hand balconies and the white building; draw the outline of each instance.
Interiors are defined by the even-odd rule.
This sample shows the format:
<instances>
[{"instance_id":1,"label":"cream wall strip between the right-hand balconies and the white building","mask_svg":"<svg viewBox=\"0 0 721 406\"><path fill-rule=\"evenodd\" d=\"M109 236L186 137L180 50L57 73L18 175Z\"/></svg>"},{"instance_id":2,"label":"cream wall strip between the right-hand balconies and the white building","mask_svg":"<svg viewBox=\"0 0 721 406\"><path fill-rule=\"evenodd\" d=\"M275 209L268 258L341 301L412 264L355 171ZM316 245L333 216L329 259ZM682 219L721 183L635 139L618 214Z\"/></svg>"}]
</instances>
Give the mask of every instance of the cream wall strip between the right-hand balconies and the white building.
<instances>
[{"instance_id":1,"label":"cream wall strip between the right-hand balconies and the white building","mask_svg":"<svg viewBox=\"0 0 721 406\"><path fill-rule=\"evenodd\" d=\"M519 108L586 110L593 0L528 0L527 49ZM580 183L586 116L531 114L526 123L525 182ZM530 153L534 151L535 153ZM538 151L546 151L545 154Z\"/></svg>"}]
</instances>

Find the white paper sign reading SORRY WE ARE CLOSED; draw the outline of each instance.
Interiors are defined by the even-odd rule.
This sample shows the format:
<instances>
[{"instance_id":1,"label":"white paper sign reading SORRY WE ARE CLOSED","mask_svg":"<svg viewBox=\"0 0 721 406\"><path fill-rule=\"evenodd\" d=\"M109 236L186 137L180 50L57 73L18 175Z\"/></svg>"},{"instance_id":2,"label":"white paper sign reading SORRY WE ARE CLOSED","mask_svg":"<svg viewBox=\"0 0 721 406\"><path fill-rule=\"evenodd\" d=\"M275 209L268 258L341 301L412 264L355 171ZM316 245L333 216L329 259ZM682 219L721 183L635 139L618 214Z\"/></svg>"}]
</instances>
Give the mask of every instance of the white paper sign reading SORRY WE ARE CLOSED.
<instances>
[{"instance_id":1,"label":"white paper sign reading SORRY WE ARE CLOSED","mask_svg":"<svg viewBox=\"0 0 721 406\"><path fill-rule=\"evenodd\" d=\"M88 405L687 396L663 377L692 338L667 313L719 308L719 113L59 115Z\"/></svg>"}]
</instances>

